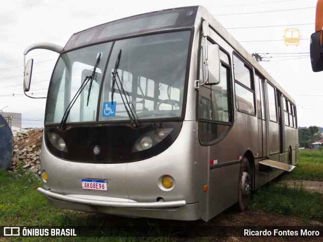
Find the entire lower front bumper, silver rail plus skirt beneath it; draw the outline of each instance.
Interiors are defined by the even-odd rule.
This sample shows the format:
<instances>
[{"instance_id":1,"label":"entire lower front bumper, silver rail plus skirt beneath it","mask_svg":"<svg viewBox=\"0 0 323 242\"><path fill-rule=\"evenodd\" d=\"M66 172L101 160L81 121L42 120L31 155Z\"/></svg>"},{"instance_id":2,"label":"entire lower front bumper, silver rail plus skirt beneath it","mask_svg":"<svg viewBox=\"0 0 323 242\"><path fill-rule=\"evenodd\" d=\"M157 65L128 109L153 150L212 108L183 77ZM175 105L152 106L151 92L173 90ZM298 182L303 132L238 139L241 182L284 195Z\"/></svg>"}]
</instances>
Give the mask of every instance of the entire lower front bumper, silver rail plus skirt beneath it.
<instances>
[{"instance_id":1,"label":"entire lower front bumper, silver rail plus skirt beneath it","mask_svg":"<svg viewBox=\"0 0 323 242\"><path fill-rule=\"evenodd\" d=\"M106 197L98 196L95 196L96 199L93 196L92 199L89 199L89 197L81 195L61 195L42 188L38 188L37 191L45 195L51 205L62 209L130 217L175 220L200 219L199 204L187 204L185 200L152 203L139 203L131 200L119 202L107 201Z\"/></svg>"}]
</instances>

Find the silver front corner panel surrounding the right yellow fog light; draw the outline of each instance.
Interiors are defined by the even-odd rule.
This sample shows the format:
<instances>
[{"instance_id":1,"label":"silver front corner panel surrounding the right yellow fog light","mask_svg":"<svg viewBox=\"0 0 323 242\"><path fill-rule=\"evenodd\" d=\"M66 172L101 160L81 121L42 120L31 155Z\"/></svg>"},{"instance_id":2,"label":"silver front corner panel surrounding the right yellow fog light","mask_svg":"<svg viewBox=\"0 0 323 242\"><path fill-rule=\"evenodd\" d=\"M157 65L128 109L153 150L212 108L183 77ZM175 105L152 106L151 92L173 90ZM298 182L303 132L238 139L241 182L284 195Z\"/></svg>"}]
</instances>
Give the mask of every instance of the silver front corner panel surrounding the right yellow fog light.
<instances>
[{"instance_id":1,"label":"silver front corner panel surrounding the right yellow fog light","mask_svg":"<svg viewBox=\"0 0 323 242\"><path fill-rule=\"evenodd\" d=\"M165 175L173 178L174 185L170 189L161 185ZM197 190L203 191L203 188L197 188L196 122L184 121L178 138L164 152L128 163L126 186L129 199L137 202L156 202L163 198L165 202L197 203Z\"/></svg>"}]
</instances>

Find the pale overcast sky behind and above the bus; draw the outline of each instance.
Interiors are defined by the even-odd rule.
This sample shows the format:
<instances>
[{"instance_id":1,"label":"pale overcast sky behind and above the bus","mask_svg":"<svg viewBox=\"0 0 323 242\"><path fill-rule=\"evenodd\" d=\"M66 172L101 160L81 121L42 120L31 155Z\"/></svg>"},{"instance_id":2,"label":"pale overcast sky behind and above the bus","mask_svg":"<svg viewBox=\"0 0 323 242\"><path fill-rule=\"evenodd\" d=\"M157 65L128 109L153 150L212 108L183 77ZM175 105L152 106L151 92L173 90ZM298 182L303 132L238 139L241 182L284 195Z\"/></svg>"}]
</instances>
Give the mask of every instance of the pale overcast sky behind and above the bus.
<instances>
[{"instance_id":1,"label":"pale overcast sky behind and above the bus","mask_svg":"<svg viewBox=\"0 0 323 242\"><path fill-rule=\"evenodd\" d=\"M316 0L103 1L0 0L0 110L22 113L23 127L43 126L45 99L23 94L23 52L31 44L64 46L73 33L116 19L184 6L204 6L296 100L298 125L323 127L323 72L313 73L309 38ZM298 46L285 45L286 28L298 28ZM46 96L57 53L34 50L31 91Z\"/></svg>"}]
</instances>

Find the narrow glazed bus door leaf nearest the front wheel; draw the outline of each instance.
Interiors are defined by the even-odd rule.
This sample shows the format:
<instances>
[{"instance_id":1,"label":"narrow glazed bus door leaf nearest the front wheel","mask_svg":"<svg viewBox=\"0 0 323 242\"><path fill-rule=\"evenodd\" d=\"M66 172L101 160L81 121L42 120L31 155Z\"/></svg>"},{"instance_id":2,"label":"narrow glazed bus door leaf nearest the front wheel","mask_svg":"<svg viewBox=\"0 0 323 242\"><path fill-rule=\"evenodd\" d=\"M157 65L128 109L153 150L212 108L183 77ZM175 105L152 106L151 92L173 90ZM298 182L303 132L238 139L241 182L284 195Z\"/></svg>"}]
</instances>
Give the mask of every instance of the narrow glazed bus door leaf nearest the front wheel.
<instances>
[{"instance_id":1,"label":"narrow glazed bus door leaf nearest the front wheel","mask_svg":"<svg viewBox=\"0 0 323 242\"><path fill-rule=\"evenodd\" d=\"M258 116L258 157L267 157L267 122L264 99L264 78L256 74L255 78L257 94L257 116Z\"/></svg>"}]
</instances>

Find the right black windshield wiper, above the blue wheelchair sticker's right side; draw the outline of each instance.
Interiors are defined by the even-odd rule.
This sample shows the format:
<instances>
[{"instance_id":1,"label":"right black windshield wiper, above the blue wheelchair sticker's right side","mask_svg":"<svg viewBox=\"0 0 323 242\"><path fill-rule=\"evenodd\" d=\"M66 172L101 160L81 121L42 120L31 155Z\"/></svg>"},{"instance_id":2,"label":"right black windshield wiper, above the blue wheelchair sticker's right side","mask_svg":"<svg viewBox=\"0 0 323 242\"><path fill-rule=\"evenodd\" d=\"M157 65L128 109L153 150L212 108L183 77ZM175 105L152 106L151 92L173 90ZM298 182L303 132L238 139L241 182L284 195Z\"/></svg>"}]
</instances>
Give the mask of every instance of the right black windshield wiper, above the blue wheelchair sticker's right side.
<instances>
[{"instance_id":1,"label":"right black windshield wiper, above the blue wheelchair sticker's right side","mask_svg":"<svg viewBox=\"0 0 323 242\"><path fill-rule=\"evenodd\" d=\"M122 102L126 108L126 111L127 111L127 114L129 116L129 119L130 119L130 122L132 124L132 126L134 128L138 128L140 127L140 124L138 123L138 120L136 118L136 115L135 113L132 111L132 108L131 108L131 105L130 105L130 101L128 101L128 98L127 96L129 97L129 94L126 92L126 90L123 88L123 85L122 85L122 82L120 80L120 77L119 77L119 74L118 74L118 68L119 68L119 64L120 64L120 58L121 58L121 49L119 51L119 54L118 54L118 57L117 57L117 61L116 61L116 65L115 65L115 69L112 73L112 94L111 94L111 103L113 104L113 96L114 96L114 93L115 93L115 84L117 83L117 87L118 87L118 90L119 90L119 93L120 93L120 96L121 96L121 99L122 99ZM117 77L118 77L118 80L119 80L119 83L120 83L120 87L119 87L119 84L117 82ZM121 92L122 91L122 92ZM126 99L126 102L124 100L124 97L125 96L125 99ZM130 99L130 97L129 97ZM128 109L129 108L129 109Z\"/></svg>"}]
</instances>

